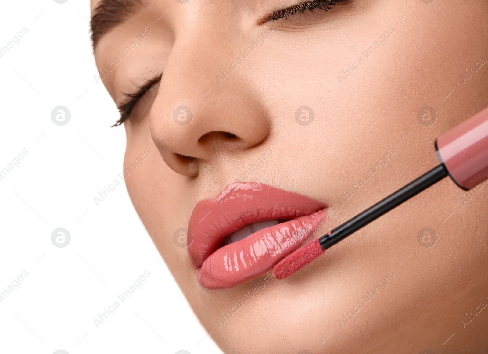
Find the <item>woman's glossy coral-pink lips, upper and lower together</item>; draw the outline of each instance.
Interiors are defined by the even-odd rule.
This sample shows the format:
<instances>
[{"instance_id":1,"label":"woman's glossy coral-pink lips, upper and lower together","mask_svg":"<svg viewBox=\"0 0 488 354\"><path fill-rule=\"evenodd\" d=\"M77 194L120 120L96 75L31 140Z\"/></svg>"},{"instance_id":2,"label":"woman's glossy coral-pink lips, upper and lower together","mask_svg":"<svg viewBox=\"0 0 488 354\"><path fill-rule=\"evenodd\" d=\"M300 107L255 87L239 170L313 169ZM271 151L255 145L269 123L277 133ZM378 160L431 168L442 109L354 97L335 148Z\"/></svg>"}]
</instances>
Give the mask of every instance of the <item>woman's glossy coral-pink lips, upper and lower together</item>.
<instances>
[{"instance_id":1,"label":"woman's glossy coral-pink lips, upper and lower together","mask_svg":"<svg viewBox=\"0 0 488 354\"><path fill-rule=\"evenodd\" d=\"M188 246L205 288L224 289L266 272L298 249L327 216L325 205L261 183L229 184L216 198L199 201L190 218ZM287 221L220 247L248 224Z\"/></svg>"}]
</instances>

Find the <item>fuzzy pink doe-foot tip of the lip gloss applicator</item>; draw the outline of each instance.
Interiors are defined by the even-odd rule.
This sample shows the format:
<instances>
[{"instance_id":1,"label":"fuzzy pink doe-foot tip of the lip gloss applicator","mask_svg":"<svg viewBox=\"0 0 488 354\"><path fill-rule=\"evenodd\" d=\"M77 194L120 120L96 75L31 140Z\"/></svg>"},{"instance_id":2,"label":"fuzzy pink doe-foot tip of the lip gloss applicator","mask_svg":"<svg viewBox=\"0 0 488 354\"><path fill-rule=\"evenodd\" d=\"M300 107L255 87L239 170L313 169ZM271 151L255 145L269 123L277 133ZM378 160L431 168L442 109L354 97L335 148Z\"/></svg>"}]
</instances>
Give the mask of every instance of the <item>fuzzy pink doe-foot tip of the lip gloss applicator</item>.
<instances>
[{"instance_id":1,"label":"fuzzy pink doe-foot tip of the lip gloss applicator","mask_svg":"<svg viewBox=\"0 0 488 354\"><path fill-rule=\"evenodd\" d=\"M273 276L280 280L285 279L324 253L319 239L315 238L278 263L273 269Z\"/></svg>"}]
</instances>

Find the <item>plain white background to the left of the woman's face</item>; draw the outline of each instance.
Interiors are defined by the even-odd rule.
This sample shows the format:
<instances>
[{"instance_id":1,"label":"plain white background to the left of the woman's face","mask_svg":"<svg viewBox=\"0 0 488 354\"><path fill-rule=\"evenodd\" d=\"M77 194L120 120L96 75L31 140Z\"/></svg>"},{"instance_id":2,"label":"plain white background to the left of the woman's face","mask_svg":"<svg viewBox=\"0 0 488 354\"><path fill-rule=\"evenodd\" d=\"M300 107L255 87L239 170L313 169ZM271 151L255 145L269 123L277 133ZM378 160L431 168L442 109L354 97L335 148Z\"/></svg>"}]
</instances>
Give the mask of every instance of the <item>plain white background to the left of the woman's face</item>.
<instances>
[{"instance_id":1,"label":"plain white background to the left of the woman's face","mask_svg":"<svg viewBox=\"0 0 488 354\"><path fill-rule=\"evenodd\" d=\"M2 1L0 48L0 352L221 353L191 312L136 215L125 186L94 197L122 172L125 133L97 74L88 0ZM51 120L56 106L71 113ZM119 178L120 179L120 178ZM51 233L65 228L66 247ZM150 276L97 328L94 318Z\"/></svg>"}]
</instances>

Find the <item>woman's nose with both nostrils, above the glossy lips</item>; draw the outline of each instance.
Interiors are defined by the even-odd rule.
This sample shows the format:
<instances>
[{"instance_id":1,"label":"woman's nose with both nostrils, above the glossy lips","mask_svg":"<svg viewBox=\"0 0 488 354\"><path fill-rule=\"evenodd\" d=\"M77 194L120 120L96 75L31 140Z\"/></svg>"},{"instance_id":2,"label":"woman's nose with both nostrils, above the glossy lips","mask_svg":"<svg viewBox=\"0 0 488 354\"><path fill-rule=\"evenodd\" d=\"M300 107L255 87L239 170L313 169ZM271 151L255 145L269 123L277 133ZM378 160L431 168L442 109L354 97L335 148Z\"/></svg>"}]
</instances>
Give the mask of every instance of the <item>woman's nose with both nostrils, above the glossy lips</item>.
<instances>
[{"instance_id":1,"label":"woman's nose with both nostrils, above the glossy lips","mask_svg":"<svg viewBox=\"0 0 488 354\"><path fill-rule=\"evenodd\" d=\"M203 162L216 164L261 144L271 119L249 75L252 63L237 64L237 48L249 45L247 39L231 43L203 16L186 23L195 29L175 31L149 127L166 164L195 177Z\"/></svg>"}]
</instances>

